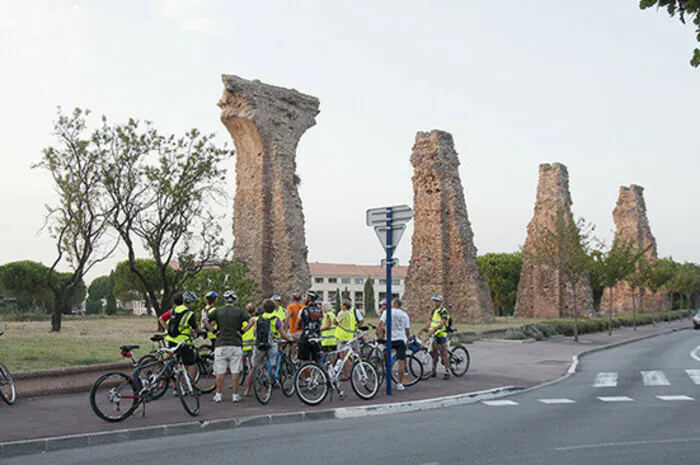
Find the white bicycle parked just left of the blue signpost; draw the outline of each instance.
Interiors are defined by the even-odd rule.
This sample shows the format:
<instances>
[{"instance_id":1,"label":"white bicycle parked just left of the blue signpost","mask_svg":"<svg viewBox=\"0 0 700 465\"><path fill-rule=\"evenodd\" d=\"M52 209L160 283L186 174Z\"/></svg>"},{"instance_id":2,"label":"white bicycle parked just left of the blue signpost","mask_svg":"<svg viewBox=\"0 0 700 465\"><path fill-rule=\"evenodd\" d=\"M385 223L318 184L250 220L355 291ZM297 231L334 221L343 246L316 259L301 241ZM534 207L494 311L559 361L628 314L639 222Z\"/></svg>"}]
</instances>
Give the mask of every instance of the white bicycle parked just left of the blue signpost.
<instances>
[{"instance_id":1,"label":"white bicycle parked just left of the blue signpost","mask_svg":"<svg viewBox=\"0 0 700 465\"><path fill-rule=\"evenodd\" d=\"M338 393L341 400L345 393L340 389L343 376L343 368L351 361L350 386L355 394L364 400L372 399L379 392L379 375L377 370L369 362L360 358L360 354L353 348L367 333L363 331L348 341L342 349L334 352L322 353L318 362L306 362L302 364L294 375L294 387L297 397L306 405L319 405L324 401L329 391L331 400L333 391ZM311 338L310 342L320 344L321 338ZM335 359L335 363L331 359Z\"/></svg>"}]
</instances>

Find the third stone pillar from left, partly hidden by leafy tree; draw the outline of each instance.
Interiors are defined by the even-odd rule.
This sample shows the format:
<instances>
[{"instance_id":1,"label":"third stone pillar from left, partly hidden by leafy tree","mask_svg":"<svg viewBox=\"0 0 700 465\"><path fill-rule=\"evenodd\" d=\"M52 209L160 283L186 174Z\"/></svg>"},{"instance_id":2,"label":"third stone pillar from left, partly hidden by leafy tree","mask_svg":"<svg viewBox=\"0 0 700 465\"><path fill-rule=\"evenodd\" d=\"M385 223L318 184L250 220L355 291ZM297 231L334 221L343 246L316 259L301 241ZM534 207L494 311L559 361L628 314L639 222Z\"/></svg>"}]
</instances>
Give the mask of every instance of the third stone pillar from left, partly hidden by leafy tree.
<instances>
[{"instance_id":1,"label":"third stone pillar from left, partly hidden by leafy tree","mask_svg":"<svg viewBox=\"0 0 700 465\"><path fill-rule=\"evenodd\" d=\"M535 213L527 225L527 239L523 251L523 268L515 304L515 315L528 318L560 318L573 316L573 290L564 273L533 259L533 241L538 228L554 229L558 211L563 211L568 221L574 221L571 213L569 172L561 163L540 165ZM593 292L588 276L584 276L576 288L579 316L593 312Z\"/></svg>"}]
</instances>

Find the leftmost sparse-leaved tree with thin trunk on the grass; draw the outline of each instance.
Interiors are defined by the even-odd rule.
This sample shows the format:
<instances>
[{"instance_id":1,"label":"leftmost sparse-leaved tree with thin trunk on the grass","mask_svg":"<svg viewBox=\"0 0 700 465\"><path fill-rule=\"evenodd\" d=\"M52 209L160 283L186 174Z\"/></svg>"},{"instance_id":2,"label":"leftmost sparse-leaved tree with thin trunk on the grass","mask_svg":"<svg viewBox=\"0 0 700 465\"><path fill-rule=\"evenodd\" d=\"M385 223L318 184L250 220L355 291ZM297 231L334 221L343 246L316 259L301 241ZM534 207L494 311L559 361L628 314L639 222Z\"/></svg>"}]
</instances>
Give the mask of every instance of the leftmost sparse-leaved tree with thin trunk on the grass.
<instances>
[{"instance_id":1,"label":"leftmost sparse-leaved tree with thin trunk on the grass","mask_svg":"<svg viewBox=\"0 0 700 465\"><path fill-rule=\"evenodd\" d=\"M86 134L89 111L76 108L64 115L59 108L54 123L58 145L43 150L33 168L51 173L58 200L47 205L45 227L56 241L56 259L46 274L54 295L51 331L61 330L61 316L71 302L83 276L93 266L109 258L118 245L110 237L110 217L114 206L102 183L101 150ZM70 271L61 273L59 266Z\"/></svg>"}]
</instances>

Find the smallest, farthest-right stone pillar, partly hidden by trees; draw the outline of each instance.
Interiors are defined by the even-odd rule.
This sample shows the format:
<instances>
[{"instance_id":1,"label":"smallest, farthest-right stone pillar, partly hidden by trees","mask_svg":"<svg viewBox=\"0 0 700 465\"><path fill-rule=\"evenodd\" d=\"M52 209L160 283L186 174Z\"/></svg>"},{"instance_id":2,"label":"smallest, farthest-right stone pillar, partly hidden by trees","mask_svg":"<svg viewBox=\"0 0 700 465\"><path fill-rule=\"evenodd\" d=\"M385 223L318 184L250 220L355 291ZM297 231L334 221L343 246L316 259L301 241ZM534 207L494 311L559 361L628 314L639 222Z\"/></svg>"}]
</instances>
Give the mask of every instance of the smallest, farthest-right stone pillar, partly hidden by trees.
<instances>
[{"instance_id":1,"label":"smallest, farthest-right stone pillar, partly hidden by trees","mask_svg":"<svg viewBox=\"0 0 700 465\"><path fill-rule=\"evenodd\" d=\"M645 252L645 257L652 262L657 259L656 239L651 233L649 220L647 219L647 207L644 202L644 188L632 184L631 186L620 186L620 195L613 210L615 221L615 240L630 241L637 250L649 247ZM632 289L625 281L618 283L613 288L613 313L632 313L633 304L637 310L640 309L641 292L637 290L632 302ZM652 294L646 292L644 297L643 310L645 312L656 312L659 309L658 302L661 301L661 311L670 310L671 300L666 294ZM600 301L600 311L608 312L610 308L610 289L603 291Z\"/></svg>"}]
</instances>

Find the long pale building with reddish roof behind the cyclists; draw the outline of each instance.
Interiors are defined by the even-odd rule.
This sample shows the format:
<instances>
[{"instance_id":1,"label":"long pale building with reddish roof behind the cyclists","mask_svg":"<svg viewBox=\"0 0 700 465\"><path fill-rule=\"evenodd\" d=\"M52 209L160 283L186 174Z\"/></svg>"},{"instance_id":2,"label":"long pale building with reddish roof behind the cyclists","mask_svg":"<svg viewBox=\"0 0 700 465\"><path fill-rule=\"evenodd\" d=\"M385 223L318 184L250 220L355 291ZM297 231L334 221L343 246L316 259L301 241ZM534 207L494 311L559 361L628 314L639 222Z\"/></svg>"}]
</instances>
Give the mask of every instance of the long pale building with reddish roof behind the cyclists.
<instances>
[{"instance_id":1,"label":"long pale building with reddish roof behind the cyclists","mask_svg":"<svg viewBox=\"0 0 700 465\"><path fill-rule=\"evenodd\" d=\"M374 280L374 301L386 297L386 270L381 266L343 265L338 263L309 263L311 269L311 289L317 291L323 302L334 302L336 292L347 297L359 309L364 307L365 280ZM391 295L403 297L407 266L392 268Z\"/></svg>"}]
</instances>

